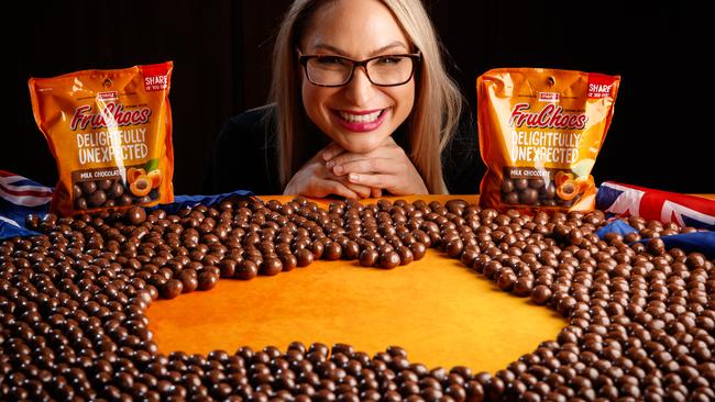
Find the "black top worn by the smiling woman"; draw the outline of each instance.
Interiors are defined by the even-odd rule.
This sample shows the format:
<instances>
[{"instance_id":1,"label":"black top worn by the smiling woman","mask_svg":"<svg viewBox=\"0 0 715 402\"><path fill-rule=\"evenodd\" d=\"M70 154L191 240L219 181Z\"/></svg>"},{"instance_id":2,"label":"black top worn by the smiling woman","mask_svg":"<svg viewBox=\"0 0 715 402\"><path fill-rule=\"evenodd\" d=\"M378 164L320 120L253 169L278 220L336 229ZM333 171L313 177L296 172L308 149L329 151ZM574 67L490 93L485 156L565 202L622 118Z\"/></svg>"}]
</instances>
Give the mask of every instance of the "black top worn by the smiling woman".
<instances>
[{"instance_id":1,"label":"black top worn by the smiling woman","mask_svg":"<svg viewBox=\"0 0 715 402\"><path fill-rule=\"evenodd\" d=\"M255 194L283 193L278 182L275 130L267 130L274 126L274 113L275 105L267 105L227 121L213 145L204 187L207 194L233 190L250 190ZM312 130L322 143L312 145L315 149L309 149L309 158L328 145L328 137L317 127ZM402 127L393 138L409 155L409 144ZM444 182L452 194L474 194L479 192L482 172L475 124L471 113L465 111L457 133L442 152Z\"/></svg>"}]
</instances>

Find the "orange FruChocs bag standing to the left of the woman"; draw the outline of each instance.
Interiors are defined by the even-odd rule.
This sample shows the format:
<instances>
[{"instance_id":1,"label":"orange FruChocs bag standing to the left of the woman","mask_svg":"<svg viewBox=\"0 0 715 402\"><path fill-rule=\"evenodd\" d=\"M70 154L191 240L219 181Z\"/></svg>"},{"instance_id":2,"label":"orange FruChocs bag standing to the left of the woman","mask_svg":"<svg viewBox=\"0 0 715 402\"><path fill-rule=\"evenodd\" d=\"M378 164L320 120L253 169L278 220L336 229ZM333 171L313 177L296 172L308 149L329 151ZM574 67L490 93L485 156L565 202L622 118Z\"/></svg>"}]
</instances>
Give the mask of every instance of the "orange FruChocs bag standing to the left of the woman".
<instances>
[{"instance_id":1,"label":"orange FruChocs bag standing to the left of the woman","mask_svg":"<svg viewBox=\"0 0 715 402\"><path fill-rule=\"evenodd\" d=\"M172 70L167 62L30 79L35 122L59 175L52 212L174 200Z\"/></svg>"}]
</instances>

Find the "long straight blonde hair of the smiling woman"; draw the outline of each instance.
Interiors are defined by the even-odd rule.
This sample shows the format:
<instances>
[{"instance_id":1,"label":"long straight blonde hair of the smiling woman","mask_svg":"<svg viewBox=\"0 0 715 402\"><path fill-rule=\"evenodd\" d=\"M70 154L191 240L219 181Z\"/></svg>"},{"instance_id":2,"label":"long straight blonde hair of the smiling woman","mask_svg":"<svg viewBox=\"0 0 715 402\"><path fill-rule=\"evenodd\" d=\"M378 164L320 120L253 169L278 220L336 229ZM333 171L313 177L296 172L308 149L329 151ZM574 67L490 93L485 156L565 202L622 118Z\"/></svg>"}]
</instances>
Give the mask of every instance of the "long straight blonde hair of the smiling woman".
<instances>
[{"instance_id":1,"label":"long straight blonde hair of the smiling woman","mask_svg":"<svg viewBox=\"0 0 715 402\"><path fill-rule=\"evenodd\" d=\"M406 120L411 145L409 158L430 193L447 193L441 152L457 129L462 96L444 70L441 48L420 0L381 0L393 13L408 40L422 54L416 75L416 100ZM328 0L296 0L286 13L273 53L271 100L276 103L278 175L285 188L293 175L312 155L304 155L309 120L302 110L300 74L296 49L312 14ZM439 111L439 112L436 112Z\"/></svg>"}]
</instances>

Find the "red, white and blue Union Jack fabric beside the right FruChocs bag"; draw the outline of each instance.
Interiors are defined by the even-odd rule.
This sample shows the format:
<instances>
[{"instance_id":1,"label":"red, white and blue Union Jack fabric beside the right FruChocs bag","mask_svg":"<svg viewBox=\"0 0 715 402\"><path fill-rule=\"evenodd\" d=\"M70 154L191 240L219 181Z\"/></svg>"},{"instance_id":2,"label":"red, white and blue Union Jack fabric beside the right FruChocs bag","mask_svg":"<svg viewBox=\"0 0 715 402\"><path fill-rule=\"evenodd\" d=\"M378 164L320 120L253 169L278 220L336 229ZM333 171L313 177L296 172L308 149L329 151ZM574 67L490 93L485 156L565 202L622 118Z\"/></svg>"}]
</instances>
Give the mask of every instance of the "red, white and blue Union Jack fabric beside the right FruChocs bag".
<instances>
[{"instance_id":1,"label":"red, white and blue Union Jack fabric beside the right FruChocs bag","mask_svg":"<svg viewBox=\"0 0 715 402\"><path fill-rule=\"evenodd\" d=\"M605 181L598 187L596 208L622 216L715 231L715 201L701 197Z\"/></svg>"}]
</instances>

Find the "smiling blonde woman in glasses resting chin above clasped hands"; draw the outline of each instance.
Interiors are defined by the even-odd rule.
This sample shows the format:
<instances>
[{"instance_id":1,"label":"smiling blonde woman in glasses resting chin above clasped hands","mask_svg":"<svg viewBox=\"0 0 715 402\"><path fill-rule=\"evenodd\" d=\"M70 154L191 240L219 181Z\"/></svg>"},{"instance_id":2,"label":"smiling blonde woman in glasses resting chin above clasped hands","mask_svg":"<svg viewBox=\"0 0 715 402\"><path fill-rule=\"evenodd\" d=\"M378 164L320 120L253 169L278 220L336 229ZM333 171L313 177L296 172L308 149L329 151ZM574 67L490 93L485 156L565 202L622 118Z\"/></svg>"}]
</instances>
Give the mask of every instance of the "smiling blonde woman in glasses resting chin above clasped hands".
<instances>
[{"instance_id":1,"label":"smiling blonde woman in glasses resting chin above clasped hands","mask_svg":"<svg viewBox=\"0 0 715 402\"><path fill-rule=\"evenodd\" d=\"M208 191L477 191L476 134L419 0L296 0L273 64L274 103L227 123Z\"/></svg>"}]
</instances>

